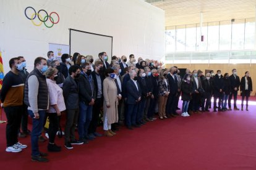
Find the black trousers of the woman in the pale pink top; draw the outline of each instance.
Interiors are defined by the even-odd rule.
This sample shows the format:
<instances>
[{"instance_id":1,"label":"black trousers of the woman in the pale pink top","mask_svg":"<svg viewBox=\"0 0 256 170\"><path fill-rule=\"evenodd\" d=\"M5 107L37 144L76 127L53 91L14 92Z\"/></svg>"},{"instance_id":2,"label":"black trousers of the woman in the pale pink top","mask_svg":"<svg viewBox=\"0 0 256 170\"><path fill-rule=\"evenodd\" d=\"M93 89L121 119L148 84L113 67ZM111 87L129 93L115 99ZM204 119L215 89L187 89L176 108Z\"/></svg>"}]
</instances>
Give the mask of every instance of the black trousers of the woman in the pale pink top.
<instances>
[{"instance_id":1,"label":"black trousers of the woman in the pale pink top","mask_svg":"<svg viewBox=\"0 0 256 170\"><path fill-rule=\"evenodd\" d=\"M48 113L49 116L49 143L54 144L56 133L59 129L59 116L57 113Z\"/></svg>"}]
</instances>

